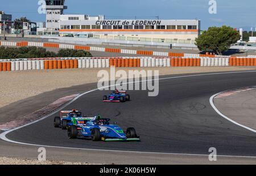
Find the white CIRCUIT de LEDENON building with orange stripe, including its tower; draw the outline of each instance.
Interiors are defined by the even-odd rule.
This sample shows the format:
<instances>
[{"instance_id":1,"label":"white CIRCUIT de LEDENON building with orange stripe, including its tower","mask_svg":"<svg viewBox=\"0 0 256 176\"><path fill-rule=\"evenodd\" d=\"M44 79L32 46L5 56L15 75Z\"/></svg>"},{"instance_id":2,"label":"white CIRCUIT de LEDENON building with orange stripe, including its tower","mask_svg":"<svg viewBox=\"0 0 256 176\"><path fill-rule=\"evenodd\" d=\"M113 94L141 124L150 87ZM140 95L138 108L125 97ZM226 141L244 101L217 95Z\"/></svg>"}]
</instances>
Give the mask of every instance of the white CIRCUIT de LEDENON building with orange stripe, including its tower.
<instances>
[{"instance_id":1,"label":"white CIRCUIT de LEDENON building with orange stripe, including its tower","mask_svg":"<svg viewBox=\"0 0 256 176\"><path fill-rule=\"evenodd\" d=\"M66 15L65 1L47 2L47 28L59 36L194 44L200 20L110 20L104 15Z\"/></svg>"}]
</instances>

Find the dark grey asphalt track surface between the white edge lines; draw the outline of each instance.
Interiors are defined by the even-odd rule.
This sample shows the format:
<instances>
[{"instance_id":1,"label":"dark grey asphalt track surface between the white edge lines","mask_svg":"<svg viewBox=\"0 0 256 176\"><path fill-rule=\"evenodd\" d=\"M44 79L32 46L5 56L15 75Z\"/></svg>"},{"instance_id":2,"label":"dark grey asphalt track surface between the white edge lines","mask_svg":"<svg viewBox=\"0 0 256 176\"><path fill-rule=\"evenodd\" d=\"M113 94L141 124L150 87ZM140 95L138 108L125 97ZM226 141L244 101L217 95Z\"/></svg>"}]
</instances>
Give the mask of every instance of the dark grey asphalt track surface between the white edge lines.
<instances>
[{"instance_id":1,"label":"dark grey asphalt track surface between the white edge lines","mask_svg":"<svg viewBox=\"0 0 256 176\"><path fill-rule=\"evenodd\" d=\"M171 76L172 77L172 76ZM256 156L256 134L237 126L213 110L209 98L227 89L256 85L256 72L212 74L159 80L159 96L129 91L131 101L104 103L109 91L88 93L68 105L88 115L102 114L123 129L135 127L141 142L104 143L68 139L67 131L53 127L53 118L7 134L22 143L117 151Z\"/></svg>"}]
</instances>

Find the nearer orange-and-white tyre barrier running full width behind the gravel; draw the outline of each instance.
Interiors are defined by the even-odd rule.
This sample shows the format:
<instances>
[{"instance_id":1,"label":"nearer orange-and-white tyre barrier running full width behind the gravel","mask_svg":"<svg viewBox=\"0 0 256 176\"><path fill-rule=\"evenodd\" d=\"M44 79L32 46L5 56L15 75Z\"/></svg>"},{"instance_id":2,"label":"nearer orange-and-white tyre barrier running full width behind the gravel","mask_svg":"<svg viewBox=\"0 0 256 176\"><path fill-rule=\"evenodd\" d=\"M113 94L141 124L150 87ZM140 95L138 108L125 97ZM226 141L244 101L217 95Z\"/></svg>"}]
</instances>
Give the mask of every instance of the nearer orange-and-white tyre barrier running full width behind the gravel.
<instances>
[{"instance_id":1,"label":"nearer orange-and-white tyre barrier running full width behind the gravel","mask_svg":"<svg viewBox=\"0 0 256 176\"><path fill-rule=\"evenodd\" d=\"M81 57L2 59L0 71L53 70L108 67L211 67L256 66L256 58L185 58L185 57Z\"/></svg>"}]
</instances>

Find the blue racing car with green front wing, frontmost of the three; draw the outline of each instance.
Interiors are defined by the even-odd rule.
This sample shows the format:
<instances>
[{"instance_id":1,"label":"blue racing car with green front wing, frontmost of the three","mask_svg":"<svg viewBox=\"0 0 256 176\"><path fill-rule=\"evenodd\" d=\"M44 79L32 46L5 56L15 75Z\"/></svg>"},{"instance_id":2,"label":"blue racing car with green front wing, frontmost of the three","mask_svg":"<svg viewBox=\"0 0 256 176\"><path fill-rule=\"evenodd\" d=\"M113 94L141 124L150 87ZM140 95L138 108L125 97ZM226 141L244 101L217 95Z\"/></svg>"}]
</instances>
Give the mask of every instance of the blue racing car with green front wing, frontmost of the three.
<instances>
[{"instance_id":1,"label":"blue racing car with green front wing, frontmost of the three","mask_svg":"<svg viewBox=\"0 0 256 176\"><path fill-rule=\"evenodd\" d=\"M86 138L93 141L141 141L133 127L123 131L121 127L110 125L108 118L97 115L93 118L76 118L68 125L68 138Z\"/></svg>"}]
</instances>

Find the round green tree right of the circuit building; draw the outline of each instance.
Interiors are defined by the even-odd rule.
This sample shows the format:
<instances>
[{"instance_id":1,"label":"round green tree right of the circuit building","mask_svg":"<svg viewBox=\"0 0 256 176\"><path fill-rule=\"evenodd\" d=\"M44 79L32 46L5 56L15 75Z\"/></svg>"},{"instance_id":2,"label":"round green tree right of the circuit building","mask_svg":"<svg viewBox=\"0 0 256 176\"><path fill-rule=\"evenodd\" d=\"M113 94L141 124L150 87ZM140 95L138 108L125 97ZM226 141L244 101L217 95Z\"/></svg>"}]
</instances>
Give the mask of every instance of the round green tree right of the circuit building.
<instances>
[{"instance_id":1,"label":"round green tree right of the circuit building","mask_svg":"<svg viewBox=\"0 0 256 176\"><path fill-rule=\"evenodd\" d=\"M240 40L239 32L232 27L209 27L202 35L196 38L196 45L201 51L215 51L221 55L223 51L230 48Z\"/></svg>"}]
</instances>

